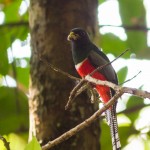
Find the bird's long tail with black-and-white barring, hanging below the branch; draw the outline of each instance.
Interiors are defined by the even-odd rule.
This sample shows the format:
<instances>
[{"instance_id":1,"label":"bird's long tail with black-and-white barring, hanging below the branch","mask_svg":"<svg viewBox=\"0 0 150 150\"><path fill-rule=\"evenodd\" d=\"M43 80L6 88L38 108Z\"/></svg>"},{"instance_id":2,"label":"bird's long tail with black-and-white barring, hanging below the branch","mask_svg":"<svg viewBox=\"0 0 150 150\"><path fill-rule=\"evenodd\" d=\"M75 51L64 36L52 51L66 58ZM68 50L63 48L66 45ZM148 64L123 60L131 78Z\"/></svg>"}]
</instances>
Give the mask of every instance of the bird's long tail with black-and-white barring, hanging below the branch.
<instances>
[{"instance_id":1,"label":"bird's long tail with black-and-white barring, hanging below the branch","mask_svg":"<svg viewBox=\"0 0 150 150\"><path fill-rule=\"evenodd\" d=\"M121 143L118 134L118 123L116 116L116 105L106 110L106 120L110 127L113 150L121 150Z\"/></svg>"}]
</instances>

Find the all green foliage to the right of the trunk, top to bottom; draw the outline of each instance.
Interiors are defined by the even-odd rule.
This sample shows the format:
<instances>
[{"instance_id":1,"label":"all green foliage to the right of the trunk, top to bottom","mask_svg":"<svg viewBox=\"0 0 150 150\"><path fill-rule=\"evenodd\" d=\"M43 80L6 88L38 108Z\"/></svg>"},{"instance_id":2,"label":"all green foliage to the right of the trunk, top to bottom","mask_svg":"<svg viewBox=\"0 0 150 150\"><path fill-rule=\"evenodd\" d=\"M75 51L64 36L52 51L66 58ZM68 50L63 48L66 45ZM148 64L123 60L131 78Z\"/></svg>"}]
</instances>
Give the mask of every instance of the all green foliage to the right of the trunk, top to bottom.
<instances>
[{"instance_id":1,"label":"all green foliage to the right of the trunk, top to bottom","mask_svg":"<svg viewBox=\"0 0 150 150\"><path fill-rule=\"evenodd\" d=\"M99 0L100 4L103 4L106 1ZM129 48L131 49L131 53L125 54L122 56L125 59L130 59L130 55L134 53L137 58L149 59L150 53L148 52L150 48L147 46L147 32L146 32L146 13L142 0L118 0L119 3L119 11L120 17L122 20L122 27L125 27L125 32L127 35L127 40L122 41L116 35L112 33L102 34L100 36L100 45L104 52L112 53L115 56L118 56L122 51ZM123 66L118 72L119 83L123 83L126 80L126 76L128 74L128 67ZM141 80L142 85L142 80ZM140 140L140 142L144 145L145 150L150 148L148 145L149 141L149 129L144 131L146 138L142 138L143 130L137 129L137 120L140 116L141 109L145 108L147 104L144 103L143 99L137 97L129 97L124 102L125 111L121 111L120 114L124 115L127 120L124 120L123 124L119 124L119 133L121 137L122 147L126 147L129 143L129 139L131 142L136 140ZM120 117L118 117L118 121ZM123 117L121 117L123 120ZM130 123L128 123L128 121ZM120 121L119 121L120 122ZM145 126L149 126L146 124ZM111 149L111 139L108 138L109 128L105 121L101 123L102 135L101 135L101 147L102 149ZM132 138L131 138L132 137ZM139 138L137 138L139 137ZM107 140L106 140L107 139ZM109 144L108 144L109 143ZM129 144L130 145L130 144ZM128 148L127 148L128 149ZM133 149L133 148L129 148ZM135 148L137 149L137 148Z\"/></svg>"}]
</instances>

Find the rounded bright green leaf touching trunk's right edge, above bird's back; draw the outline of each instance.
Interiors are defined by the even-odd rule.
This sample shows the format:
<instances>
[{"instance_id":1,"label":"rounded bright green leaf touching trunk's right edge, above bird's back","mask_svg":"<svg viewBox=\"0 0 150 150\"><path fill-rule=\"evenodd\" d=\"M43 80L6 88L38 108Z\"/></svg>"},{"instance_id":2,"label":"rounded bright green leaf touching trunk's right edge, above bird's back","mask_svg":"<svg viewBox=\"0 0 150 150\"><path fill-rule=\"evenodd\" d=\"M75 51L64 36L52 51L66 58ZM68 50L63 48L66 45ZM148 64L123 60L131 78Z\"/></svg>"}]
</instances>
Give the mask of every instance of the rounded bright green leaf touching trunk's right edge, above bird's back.
<instances>
[{"instance_id":1,"label":"rounded bright green leaf touching trunk's right edge, above bird's back","mask_svg":"<svg viewBox=\"0 0 150 150\"><path fill-rule=\"evenodd\" d=\"M115 56L118 56L120 55L121 52L127 49L126 42L120 40L117 36L115 36L112 33L101 35L100 38L101 38L100 45L105 53L112 53ZM126 53L122 57L128 58L129 53Z\"/></svg>"}]
</instances>

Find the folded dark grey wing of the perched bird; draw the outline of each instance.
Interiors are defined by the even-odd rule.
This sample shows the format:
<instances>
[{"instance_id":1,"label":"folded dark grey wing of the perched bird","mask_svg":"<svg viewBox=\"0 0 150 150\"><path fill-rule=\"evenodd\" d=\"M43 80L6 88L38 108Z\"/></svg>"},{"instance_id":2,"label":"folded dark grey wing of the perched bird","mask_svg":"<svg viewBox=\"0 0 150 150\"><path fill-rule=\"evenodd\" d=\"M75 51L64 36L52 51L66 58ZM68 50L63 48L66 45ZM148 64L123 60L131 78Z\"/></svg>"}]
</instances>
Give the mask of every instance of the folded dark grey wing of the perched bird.
<instances>
[{"instance_id":1,"label":"folded dark grey wing of the perched bird","mask_svg":"<svg viewBox=\"0 0 150 150\"><path fill-rule=\"evenodd\" d=\"M97 68L110 62L107 56L102 51L100 51L96 46L94 46L93 48L94 49L91 50L88 55L88 58L93 66ZM111 64L105 66L99 72L101 72L108 81L118 84L116 72Z\"/></svg>"}]
</instances>

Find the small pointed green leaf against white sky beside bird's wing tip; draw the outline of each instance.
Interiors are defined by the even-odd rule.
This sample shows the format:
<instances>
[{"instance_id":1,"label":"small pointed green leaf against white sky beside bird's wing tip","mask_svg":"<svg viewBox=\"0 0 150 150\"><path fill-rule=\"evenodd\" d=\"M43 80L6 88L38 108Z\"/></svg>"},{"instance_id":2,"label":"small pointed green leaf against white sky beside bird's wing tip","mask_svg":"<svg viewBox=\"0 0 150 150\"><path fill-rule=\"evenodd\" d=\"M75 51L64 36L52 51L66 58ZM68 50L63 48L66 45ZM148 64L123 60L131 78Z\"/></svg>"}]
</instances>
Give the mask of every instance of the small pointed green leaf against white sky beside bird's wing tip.
<instances>
[{"instance_id":1,"label":"small pointed green leaf against white sky beside bird's wing tip","mask_svg":"<svg viewBox=\"0 0 150 150\"><path fill-rule=\"evenodd\" d=\"M119 79L119 83L123 83L123 82L125 81L126 76L127 76L127 73L128 73L128 67L127 67L127 66L121 68L121 69L117 72L118 79Z\"/></svg>"}]
</instances>

